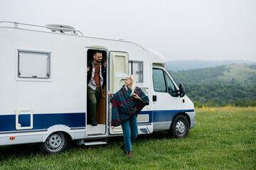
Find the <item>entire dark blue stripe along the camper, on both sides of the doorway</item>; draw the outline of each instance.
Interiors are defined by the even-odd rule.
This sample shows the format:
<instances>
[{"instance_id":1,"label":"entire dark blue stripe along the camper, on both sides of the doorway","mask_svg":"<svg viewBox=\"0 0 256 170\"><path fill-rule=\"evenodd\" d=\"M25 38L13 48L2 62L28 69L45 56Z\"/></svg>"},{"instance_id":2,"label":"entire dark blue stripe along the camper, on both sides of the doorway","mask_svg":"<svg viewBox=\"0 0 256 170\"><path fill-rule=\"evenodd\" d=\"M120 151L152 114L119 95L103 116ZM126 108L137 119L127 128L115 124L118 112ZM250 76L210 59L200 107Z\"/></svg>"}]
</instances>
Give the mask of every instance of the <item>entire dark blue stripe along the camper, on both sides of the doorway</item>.
<instances>
[{"instance_id":1,"label":"entire dark blue stripe along the camper, on both sides of the doorway","mask_svg":"<svg viewBox=\"0 0 256 170\"><path fill-rule=\"evenodd\" d=\"M169 110L169 111L142 111L139 114L149 115L149 123L172 121L178 113L193 112L191 110ZM21 127L30 126L30 115L19 115L18 122ZM16 130L16 115L0 115L0 132ZM33 129L48 129L53 125L66 125L70 128L85 127L85 113L50 113L34 114ZM141 124L141 123L140 123ZM143 123L142 123L143 124ZM18 130L21 131L21 130Z\"/></svg>"}]
</instances>

